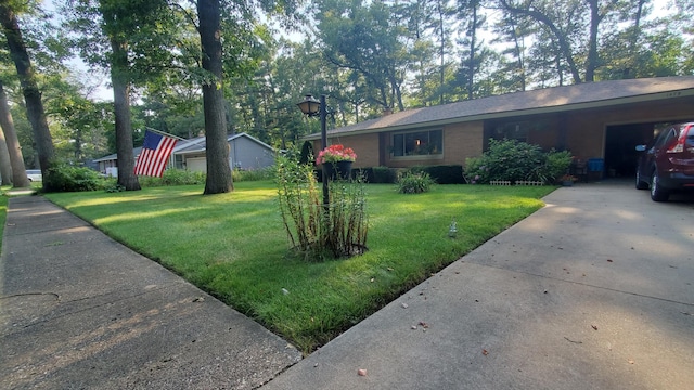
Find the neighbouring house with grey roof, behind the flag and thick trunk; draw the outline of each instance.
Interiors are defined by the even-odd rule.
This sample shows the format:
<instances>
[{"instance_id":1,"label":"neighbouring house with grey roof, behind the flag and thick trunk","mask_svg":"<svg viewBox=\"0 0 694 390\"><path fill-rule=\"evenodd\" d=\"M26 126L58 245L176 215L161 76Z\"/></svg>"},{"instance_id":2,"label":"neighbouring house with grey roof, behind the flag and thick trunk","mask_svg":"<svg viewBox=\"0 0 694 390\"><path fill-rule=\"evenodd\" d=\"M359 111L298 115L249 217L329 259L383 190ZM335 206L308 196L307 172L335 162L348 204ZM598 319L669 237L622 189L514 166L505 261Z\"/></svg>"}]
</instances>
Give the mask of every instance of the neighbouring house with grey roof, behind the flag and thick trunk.
<instances>
[{"instance_id":1,"label":"neighbouring house with grey roof, behind the flag and thick trunk","mask_svg":"<svg viewBox=\"0 0 694 390\"><path fill-rule=\"evenodd\" d=\"M229 135L229 166L239 169L261 169L274 164L274 148L265 142L246 133ZM132 150L138 159L142 147ZM188 169L191 171L207 172L205 158L206 139L197 136L190 140L179 140L171 153L168 167ZM112 154L93 160L101 173L118 176L118 156Z\"/></svg>"}]
</instances>

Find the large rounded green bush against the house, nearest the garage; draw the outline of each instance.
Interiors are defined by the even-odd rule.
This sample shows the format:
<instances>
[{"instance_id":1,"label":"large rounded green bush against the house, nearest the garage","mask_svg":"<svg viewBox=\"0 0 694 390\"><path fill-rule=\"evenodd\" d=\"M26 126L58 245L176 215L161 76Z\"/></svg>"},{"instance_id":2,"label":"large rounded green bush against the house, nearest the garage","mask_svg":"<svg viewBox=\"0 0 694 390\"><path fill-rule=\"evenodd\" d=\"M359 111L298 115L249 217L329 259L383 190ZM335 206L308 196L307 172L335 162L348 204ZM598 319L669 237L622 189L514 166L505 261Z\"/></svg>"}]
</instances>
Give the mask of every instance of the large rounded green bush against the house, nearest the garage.
<instances>
[{"instance_id":1,"label":"large rounded green bush against the house, nearest the garage","mask_svg":"<svg viewBox=\"0 0 694 390\"><path fill-rule=\"evenodd\" d=\"M566 173L571 162L569 152L542 152L540 146L516 140L489 140L481 157L465 160L465 179L471 184L492 180L554 182Z\"/></svg>"}]
</instances>

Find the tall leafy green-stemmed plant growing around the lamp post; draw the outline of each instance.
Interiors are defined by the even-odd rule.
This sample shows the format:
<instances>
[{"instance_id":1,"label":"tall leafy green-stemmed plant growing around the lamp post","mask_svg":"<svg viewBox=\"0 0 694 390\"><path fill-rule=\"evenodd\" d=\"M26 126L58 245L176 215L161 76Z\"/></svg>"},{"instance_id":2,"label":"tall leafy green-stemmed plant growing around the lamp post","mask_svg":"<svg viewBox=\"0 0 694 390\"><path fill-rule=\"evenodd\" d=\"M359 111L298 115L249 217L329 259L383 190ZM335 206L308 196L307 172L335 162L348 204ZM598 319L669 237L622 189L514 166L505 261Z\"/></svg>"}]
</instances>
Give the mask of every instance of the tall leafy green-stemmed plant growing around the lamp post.
<instances>
[{"instance_id":1,"label":"tall leafy green-stemmed plant growing around the lamp post","mask_svg":"<svg viewBox=\"0 0 694 390\"><path fill-rule=\"evenodd\" d=\"M363 177L330 182L327 205L312 164L278 156L275 181L283 225L292 247L305 259L363 253L368 233Z\"/></svg>"}]
</instances>

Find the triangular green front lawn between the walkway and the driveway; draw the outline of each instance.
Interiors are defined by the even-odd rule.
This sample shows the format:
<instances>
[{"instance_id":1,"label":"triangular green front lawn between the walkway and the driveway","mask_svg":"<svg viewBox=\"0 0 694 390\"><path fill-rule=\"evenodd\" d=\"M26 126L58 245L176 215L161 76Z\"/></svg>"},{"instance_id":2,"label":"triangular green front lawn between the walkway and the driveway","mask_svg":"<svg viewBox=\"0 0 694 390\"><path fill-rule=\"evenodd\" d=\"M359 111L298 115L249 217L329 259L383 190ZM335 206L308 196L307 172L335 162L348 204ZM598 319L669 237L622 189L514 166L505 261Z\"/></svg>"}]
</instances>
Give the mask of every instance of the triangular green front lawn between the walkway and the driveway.
<instances>
[{"instance_id":1,"label":"triangular green front lawn between the walkway and the driveway","mask_svg":"<svg viewBox=\"0 0 694 390\"><path fill-rule=\"evenodd\" d=\"M553 190L435 185L401 195L369 184L369 251L322 263L291 255L271 182L211 196L202 186L46 196L310 352L542 207Z\"/></svg>"}]
</instances>

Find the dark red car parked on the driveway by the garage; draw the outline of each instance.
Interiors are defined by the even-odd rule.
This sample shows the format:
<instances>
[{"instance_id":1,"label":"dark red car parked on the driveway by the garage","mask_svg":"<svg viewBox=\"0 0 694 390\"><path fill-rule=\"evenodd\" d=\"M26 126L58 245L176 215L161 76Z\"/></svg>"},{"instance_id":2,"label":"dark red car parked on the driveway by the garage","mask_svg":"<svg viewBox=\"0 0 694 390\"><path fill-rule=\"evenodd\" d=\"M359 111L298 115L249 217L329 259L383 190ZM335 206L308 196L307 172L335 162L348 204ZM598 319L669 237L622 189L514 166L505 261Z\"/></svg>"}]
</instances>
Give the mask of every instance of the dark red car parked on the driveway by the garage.
<instances>
[{"instance_id":1,"label":"dark red car parked on the driveway by the garage","mask_svg":"<svg viewBox=\"0 0 694 390\"><path fill-rule=\"evenodd\" d=\"M673 125L653 142L637 146L645 152L637 168L637 188L651 187L651 198L665 202L671 192L694 188L694 122Z\"/></svg>"}]
</instances>

